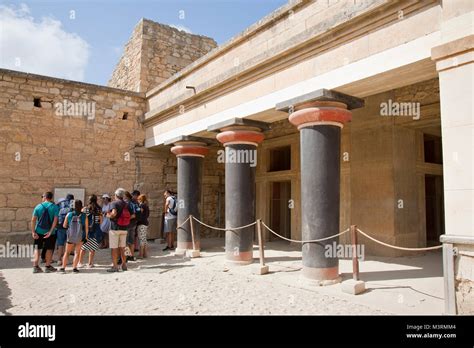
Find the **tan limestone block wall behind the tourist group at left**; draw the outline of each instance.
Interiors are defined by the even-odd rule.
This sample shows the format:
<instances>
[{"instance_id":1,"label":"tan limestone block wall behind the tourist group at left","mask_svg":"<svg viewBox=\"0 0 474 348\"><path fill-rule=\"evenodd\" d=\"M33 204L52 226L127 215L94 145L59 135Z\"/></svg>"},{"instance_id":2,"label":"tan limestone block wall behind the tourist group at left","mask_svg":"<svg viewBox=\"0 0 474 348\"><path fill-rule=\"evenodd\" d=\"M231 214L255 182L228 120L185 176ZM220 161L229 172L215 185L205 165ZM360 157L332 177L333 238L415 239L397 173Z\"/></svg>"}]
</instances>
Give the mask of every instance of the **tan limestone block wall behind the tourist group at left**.
<instances>
[{"instance_id":1,"label":"tan limestone block wall behind the tourist group at left","mask_svg":"<svg viewBox=\"0 0 474 348\"><path fill-rule=\"evenodd\" d=\"M71 115L75 103L93 116ZM144 110L138 93L0 70L0 242L29 238L32 208L55 187L141 188L157 217L163 165L143 149Z\"/></svg>"}]
</instances>

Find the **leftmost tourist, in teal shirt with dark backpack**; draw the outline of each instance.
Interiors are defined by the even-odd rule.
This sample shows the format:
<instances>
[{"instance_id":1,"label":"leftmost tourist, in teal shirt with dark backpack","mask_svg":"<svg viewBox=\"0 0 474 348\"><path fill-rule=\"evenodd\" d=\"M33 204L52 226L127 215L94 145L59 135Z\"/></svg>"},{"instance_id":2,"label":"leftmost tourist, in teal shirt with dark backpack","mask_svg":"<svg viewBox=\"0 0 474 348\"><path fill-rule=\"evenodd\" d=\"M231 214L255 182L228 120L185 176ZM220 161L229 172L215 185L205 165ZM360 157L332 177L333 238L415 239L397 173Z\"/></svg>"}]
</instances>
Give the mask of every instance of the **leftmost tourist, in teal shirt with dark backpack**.
<instances>
[{"instance_id":1,"label":"leftmost tourist, in teal shirt with dark backpack","mask_svg":"<svg viewBox=\"0 0 474 348\"><path fill-rule=\"evenodd\" d=\"M46 249L45 272L51 273L57 271L51 266L51 259L56 245L55 229L58 223L59 209L53 202L52 192L45 192L41 197L43 202L35 207L31 218L31 235L35 245L33 273L43 272L38 265L42 249Z\"/></svg>"}]
</instances>

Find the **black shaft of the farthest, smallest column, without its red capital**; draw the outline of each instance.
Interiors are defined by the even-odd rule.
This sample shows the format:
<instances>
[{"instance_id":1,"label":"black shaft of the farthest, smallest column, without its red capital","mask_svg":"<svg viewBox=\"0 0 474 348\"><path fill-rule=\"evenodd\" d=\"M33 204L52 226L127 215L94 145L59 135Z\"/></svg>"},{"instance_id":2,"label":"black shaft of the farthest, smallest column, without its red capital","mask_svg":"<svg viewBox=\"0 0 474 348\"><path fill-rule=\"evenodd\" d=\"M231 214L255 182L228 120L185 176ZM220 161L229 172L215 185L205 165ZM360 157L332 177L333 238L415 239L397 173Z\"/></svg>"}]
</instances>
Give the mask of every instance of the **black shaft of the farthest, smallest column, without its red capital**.
<instances>
[{"instance_id":1,"label":"black shaft of the farthest, smallest column, without its red capital","mask_svg":"<svg viewBox=\"0 0 474 348\"><path fill-rule=\"evenodd\" d=\"M178 157L178 226L189 215L201 219L202 157ZM194 223L196 249L200 249L200 224ZM193 249L190 223L178 228L178 249Z\"/></svg>"}]
</instances>

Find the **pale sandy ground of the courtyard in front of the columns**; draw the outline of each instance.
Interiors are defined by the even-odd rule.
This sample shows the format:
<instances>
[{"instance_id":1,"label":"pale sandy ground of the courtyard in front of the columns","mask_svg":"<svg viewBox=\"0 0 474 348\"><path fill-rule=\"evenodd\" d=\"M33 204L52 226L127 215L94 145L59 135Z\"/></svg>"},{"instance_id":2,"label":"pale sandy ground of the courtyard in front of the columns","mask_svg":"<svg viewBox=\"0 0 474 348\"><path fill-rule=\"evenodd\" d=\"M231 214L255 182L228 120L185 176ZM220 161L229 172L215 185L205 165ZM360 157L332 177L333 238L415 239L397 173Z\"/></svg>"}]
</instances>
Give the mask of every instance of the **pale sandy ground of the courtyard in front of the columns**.
<instances>
[{"instance_id":1,"label":"pale sandy ground of the courtyard in front of the columns","mask_svg":"<svg viewBox=\"0 0 474 348\"><path fill-rule=\"evenodd\" d=\"M110 251L100 250L97 267L73 274L33 274L28 259L0 260L3 314L441 314L441 254L379 258L361 263L364 294L342 293L340 284L319 287L304 280L301 251L283 242L266 244L270 273L258 264L228 267L224 240L204 240L201 258L162 252L129 263L129 271L107 273ZM254 256L258 257L257 247ZM341 260L343 279L351 261Z\"/></svg>"}]
</instances>

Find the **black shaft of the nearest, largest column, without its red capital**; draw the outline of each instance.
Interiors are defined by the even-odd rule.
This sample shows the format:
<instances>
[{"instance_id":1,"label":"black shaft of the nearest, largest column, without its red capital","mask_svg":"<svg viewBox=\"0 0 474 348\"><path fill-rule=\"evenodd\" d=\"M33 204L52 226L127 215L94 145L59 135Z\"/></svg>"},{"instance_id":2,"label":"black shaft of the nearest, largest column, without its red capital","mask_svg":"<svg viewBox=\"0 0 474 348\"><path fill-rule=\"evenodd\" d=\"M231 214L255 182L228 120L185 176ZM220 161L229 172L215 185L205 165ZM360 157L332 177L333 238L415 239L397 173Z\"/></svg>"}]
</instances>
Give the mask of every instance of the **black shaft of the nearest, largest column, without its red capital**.
<instances>
[{"instance_id":1,"label":"black shaft of the nearest, largest column, without its red capital","mask_svg":"<svg viewBox=\"0 0 474 348\"><path fill-rule=\"evenodd\" d=\"M300 136L302 238L320 239L339 233L341 129L310 126L301 129ZM326 257L324 247L334 241L338 238L303 245L304 273L311 278L326 278L325 273L333 273L329 269L338 267L338 259Z\"/></svg>"}]
</instances>

